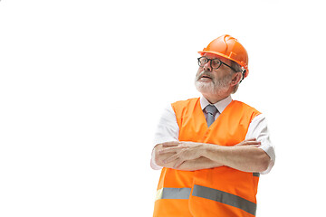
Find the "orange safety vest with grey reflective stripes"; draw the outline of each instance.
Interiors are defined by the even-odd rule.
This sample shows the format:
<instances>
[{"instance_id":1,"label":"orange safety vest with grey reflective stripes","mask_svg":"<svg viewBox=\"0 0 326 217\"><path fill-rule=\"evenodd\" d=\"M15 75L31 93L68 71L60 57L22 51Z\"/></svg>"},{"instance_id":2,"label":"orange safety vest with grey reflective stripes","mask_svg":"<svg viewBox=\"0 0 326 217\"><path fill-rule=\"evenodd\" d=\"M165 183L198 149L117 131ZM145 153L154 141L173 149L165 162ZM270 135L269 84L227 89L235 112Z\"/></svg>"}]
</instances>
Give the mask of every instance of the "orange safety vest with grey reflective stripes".
<instances>
[{"instance_id":1,"label":"orange safety vest with grey reflective stripes","mask_svg":"<svg viewBox=\"0 0 326 217\"><path fill-rule=\"evenodd\" d=\"M172 104L179 141L235 146L245 140L250 122L260 114L233 100L207 127L199 98ZM197 171L163 167L158 182L154 217L253 217L259 174L228 166Z\"/></svg>"}]
</instances>

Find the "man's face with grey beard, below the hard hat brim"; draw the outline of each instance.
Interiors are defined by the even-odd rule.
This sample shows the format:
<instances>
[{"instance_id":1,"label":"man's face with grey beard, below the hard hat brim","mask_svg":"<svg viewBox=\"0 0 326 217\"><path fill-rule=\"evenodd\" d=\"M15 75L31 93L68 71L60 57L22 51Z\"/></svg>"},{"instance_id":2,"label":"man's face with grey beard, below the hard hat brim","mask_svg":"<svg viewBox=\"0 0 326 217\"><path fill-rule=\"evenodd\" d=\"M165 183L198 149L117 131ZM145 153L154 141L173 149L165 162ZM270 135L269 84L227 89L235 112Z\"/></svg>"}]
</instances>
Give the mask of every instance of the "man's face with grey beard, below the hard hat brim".
<instances>
[{"instance_id":1,"label":"man's face with grey beard, below the hard hat brim","mask_svg":"<svg viewBox=\"0 0 326 217\"><path fill-rule=\"evenodd\" d=\"M218 58L226 64L231 65L231 61L221 58L215 54L204 54L208 59ZM214 70L211 67L211 62L207 61L203 67L199 67L196 75L195 85L199 92L206 94L225 93L230 88L232 80L232 70L221 64L221 66Z\"/></svg>"}]
</instances>

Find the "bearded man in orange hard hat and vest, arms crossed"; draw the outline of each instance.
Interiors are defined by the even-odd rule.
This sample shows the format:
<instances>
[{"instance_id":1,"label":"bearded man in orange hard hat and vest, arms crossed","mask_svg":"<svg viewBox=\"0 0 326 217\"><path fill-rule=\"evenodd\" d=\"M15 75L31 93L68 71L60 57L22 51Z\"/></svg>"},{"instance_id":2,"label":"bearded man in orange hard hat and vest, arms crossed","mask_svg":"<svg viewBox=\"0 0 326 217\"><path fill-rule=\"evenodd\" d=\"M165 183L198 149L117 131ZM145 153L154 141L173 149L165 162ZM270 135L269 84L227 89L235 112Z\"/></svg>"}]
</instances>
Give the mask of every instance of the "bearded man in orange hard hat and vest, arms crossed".
<instances>
[{"instance_id":1,"label":"bearded man in orange hard hat and vest, arms crossed","mask_svg":"<svg viewBox=\"0 0 326 217\"><path fill-rule=\"evenodd\" d=\"M275 155L264 115L231 99L248 75L247 52L222 35L199 53L202 97L172 103L158 124L151 166L163 168L154 216L252 217L259 175Z\"/></svg>"}]
</instances>

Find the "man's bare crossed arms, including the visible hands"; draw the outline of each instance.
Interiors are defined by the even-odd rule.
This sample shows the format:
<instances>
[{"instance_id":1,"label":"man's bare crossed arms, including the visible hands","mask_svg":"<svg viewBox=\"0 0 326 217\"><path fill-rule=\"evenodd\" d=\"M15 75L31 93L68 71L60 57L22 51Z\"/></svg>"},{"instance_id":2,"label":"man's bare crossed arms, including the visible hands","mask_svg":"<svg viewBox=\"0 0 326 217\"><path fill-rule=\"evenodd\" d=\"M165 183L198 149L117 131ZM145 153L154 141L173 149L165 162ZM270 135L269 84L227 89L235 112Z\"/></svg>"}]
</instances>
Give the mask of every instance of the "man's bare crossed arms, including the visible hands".
<instances>
[{"instance_id":1,"label":"man's bare crossed arms, including the visible hands","mask_svg":"<svg viewBox=\"0 0 326 217\"><path fill-rule=\"evenodd\" d=\"M218 146L195 142L167 142L154 147L157 165L194 171L226 165L244 172L264 172L269 163L261 143L255 138L235 146Z\"/></svg>"}]
</instances>

